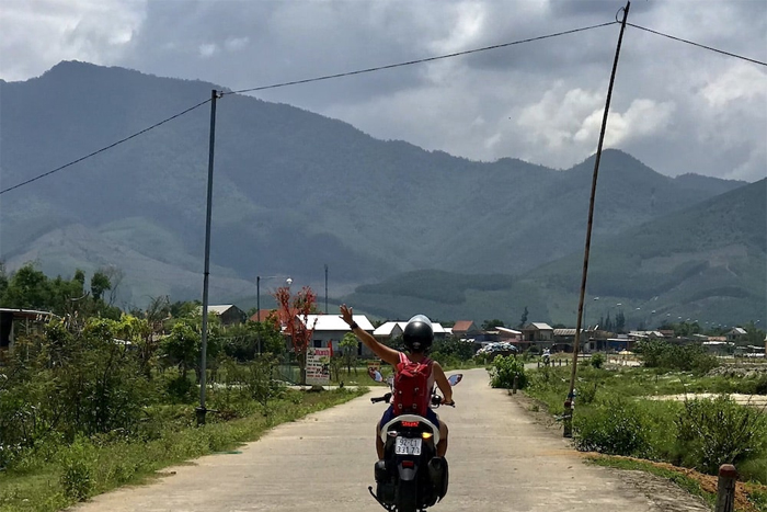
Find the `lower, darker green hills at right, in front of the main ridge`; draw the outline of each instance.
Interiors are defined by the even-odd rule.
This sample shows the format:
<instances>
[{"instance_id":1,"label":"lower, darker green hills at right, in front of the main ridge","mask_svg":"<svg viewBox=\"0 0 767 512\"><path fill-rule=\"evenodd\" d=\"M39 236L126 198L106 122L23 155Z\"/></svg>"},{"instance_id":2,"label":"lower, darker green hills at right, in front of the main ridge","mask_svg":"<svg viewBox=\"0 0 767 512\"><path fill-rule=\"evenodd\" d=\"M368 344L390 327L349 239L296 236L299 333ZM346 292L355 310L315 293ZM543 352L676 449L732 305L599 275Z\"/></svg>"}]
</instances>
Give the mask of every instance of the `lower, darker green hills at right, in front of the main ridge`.
<instances>
[{"instance_id":1,"label":"lower, darker green hills at right, in front of the main ridge","mask_svg":"<svg viewBox=\"0 0 767 512\"><path fill-rule=\"evenodd\" d=\"M527 307L530 320L574 326L582 265L580 248L520 276L423 271L344 299L385 318L419 311L514 326ZM585 309L591 326L618 310L631 328L679 317L702 327L767 322L767 180L595 240Z\"/></svg>"}]
</instances>

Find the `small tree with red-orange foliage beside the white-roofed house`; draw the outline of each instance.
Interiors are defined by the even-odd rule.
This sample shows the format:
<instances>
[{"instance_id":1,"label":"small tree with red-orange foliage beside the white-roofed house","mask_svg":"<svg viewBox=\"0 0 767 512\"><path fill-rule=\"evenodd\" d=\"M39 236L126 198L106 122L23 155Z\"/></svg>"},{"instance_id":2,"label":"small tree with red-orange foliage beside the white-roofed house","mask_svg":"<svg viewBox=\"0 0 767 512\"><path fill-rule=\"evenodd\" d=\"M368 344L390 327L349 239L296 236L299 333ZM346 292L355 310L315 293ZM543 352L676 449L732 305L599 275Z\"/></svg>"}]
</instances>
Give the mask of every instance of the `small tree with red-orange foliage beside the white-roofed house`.
<instances>
[{"instance_id":1,"label":"small tree with red-orange foliage beside the white-roofed house","mask_svg":"<svg viewBox=\"0 0 767 512\"><path fill-rule=\"evenodd\" d=\"M317 294L309 286L304 286L291 295L289 286L281 286L273 296L277 301L277 319L290 337L293 352L298 360L300 384L306 384L307 350L314 333L314 325L309 326L309 315L316 311Z\"/></svg>"}]
</instances>

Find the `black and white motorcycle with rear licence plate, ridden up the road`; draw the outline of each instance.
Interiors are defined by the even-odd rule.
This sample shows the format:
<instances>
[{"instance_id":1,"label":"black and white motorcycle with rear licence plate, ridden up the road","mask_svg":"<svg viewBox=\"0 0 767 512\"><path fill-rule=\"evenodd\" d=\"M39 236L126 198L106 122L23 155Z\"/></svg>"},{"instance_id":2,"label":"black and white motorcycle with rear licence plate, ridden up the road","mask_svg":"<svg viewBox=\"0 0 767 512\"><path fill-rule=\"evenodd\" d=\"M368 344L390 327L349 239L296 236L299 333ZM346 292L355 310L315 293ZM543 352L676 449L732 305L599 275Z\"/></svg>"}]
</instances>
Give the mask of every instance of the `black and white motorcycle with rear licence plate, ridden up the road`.
<instances>
[{"instance_id":1,"label":"black and white motorcycle with rear licence plate, ridden up the road","mask_svg":"<svg viewBox=\"0 0 767 512\"><path fill-rule=\"evenodd\" d=\"M384 382L380 373L370 375ZM457 385L462 374L448 377L450 386ZM373 403L389 403L393 391L393 377L386 383L390 391L382 397L371 398ZM442 397L432 389L431 407L438 408ZM455 407L455 403L451 405ZM439 429L417 414L400 414L381 425L384 459L375 466L376 492L373 486L368 491L389 512L423 512L447 493L447 462L436 456L439 443Z\"/></svg>"}]
</instances>

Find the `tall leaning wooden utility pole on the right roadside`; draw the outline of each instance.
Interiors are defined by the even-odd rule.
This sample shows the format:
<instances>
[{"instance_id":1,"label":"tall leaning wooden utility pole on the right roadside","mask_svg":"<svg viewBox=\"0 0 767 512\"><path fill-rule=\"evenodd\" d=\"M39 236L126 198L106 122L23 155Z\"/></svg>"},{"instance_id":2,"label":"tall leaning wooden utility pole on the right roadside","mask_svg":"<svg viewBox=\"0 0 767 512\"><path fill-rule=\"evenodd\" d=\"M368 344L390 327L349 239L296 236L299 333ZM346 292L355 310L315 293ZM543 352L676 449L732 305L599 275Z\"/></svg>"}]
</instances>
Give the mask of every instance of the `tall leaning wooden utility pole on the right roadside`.
<instances>
[{"instance_id":1,"label":"tall leaning wooden utility pole on the right roadside","mask_svg":"<svg viewBox=\"0 0 767 512\"><path fill-rule=\"evenodd\" d=\"M586 277L588 275L588 253L592 247L592 227L594 224L594 196L596 195L596 180L599 174L599 160L602 159L602 146L605 141L605 130L607 128L607 115L610 111L610 100L613 99L613 86L615 76L618 70L618 58L620 57L620 45L623 41L623 32L626 31L626 20L629 18L629 9L631 2L626 2L623 10L623 20L620 22L620 35L618 35L618 46L615 52L615 60L613 61L613 73L610 75L610 84L607 88L607 101L605 102L605 112L602 116L602 132L599 133L599 144L596 149L596 158L594 159L594 177L592 179L592 195L588 202L588 224L586 226L586 246L583 251L583 275L581 277L581 296L577 304L577 325L575 326L575 341L573 342L573 365L570 373L570 390L568 398L564 401L564 437L572 436L572 405L575 398L575 374L577 372L577 351L581 342L581 323L583 319L583 301L586 295Z\"/></svg>"}]
</instances>

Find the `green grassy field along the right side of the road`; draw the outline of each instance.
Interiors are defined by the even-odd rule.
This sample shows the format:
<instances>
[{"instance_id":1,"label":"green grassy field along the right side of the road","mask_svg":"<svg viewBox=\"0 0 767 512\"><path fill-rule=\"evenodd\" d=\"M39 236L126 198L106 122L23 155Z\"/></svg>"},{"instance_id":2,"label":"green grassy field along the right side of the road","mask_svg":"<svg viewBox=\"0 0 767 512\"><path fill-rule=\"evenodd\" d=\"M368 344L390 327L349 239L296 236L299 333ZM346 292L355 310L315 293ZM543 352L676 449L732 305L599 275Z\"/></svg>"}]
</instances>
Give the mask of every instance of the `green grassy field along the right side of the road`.
<instances>
[{"instance_id":1,"label":"green grassy field along the right side of the road","mask_svg":"<svg viewBox=\"0 0 767 512\"><path fill-rule=\"evenodd\" d=\"M541 368L530 372L529 377L530 385L525 392L545 403L549 413L561 416L563 397L569 388L570 371L559 367ZM697 377L687 373L662 373L648 368L583 367L579 371L575 386L577 390L574 424L576 444L588 440L589 442L580 445L581 450L598 450L605 453L633 455L680 466L705 468L713 460L706 463L706 459L699 458L698 455L703 452L698 448L695 454L689 452L690 446L697 446L690 440L680 442L677 439L683 426L686 429L685 432L689 433L689 421L702 420L691 420L692 417L686 416L685 403L680 401L646 398L677 394L735 392L748 389L757 382L758 379L755 378ZM724 410L729 409L722 409ZM760 412L764 414L764 409ZM622 419L621 414L623 414ZM638 425L633 425L631 418L641 421ZM687 422L678 423L682 418L687 418ZM713 443L713 446L719 446L717 450L724 450L722 443L726 440L722 429L705 430L706 439L709 443ZM636 436L631 437L628 433L633 430L636 430ZM616 437L620 432L627 436ZM734 431L732 435L735 435ZM594 445L594 442L598 443ZM737 456L743 457L743 455ZM756 485L767 485L767 454L763 451L745 457L736 464L742 478ZM757 489L755 496L762 496L760 492L764 491ZM765 497L758 500L767 502Z\"/></svg>"}]
</instances>

